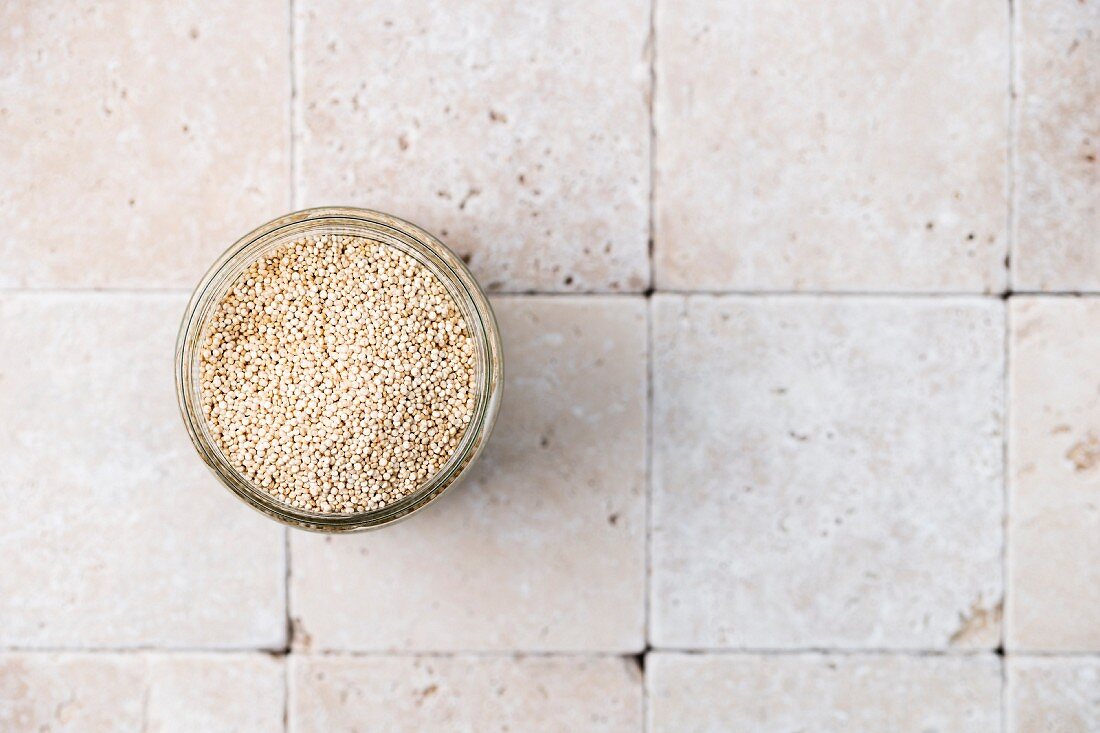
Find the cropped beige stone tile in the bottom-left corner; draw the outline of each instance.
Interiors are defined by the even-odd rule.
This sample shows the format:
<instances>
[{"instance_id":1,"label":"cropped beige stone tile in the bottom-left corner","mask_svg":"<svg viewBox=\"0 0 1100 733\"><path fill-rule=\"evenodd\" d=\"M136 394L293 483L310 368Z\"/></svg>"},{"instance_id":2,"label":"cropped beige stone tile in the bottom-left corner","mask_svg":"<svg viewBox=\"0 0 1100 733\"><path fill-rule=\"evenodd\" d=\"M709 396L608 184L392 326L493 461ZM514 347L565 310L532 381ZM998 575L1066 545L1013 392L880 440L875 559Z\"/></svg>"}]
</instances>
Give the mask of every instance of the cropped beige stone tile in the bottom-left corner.
<instances>
[{"instance_id":1,"label":"cropped beige stone tile in the bottom-left corner","mask_svg":"<svg viewBox=\"0 0 1100 733\"><path fill-rule=\"evenodd\" d=\"M263 654L2 654L0 730L268 733L283 690Z\"/></svg>"}]
</instances>

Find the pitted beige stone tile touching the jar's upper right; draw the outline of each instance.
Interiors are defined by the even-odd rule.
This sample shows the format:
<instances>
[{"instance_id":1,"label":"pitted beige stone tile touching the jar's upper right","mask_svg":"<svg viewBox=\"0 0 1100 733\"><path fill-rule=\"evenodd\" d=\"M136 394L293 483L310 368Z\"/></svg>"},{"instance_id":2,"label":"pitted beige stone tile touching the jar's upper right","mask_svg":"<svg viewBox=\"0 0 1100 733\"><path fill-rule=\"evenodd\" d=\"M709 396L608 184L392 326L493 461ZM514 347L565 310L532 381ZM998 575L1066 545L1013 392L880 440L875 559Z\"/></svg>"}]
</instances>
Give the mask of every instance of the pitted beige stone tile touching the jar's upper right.
<instances>
[{"instance_id":1,"label":"pitted beige stone tile touching the jar's upper right","mask_svg":"<svg viewBox=\"0 0 1100 733\"><path fill-rule=\"evenodd\" d=\"M300 201L410 219L490 291L647 286L649 0L295 10Z\"/></svg>"}]
</instances>

